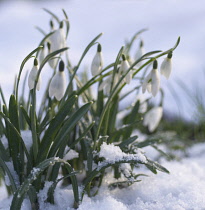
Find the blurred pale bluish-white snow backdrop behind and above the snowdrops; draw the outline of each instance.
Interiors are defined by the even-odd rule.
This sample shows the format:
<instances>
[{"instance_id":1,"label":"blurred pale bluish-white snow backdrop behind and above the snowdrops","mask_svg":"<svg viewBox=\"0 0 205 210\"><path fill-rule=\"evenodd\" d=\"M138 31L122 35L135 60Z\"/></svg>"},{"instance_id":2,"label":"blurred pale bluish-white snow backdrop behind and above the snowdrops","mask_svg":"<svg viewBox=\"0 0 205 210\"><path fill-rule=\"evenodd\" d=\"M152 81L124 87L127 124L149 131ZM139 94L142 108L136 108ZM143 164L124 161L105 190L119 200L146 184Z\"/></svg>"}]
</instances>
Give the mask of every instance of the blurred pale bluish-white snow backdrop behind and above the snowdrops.
<instances>
[{"instance_id":1,"label":"blurred pale bluish-white snow backdrop behind and above the snowdrops","mask_svg":"<svg viewBox=\"0 0 205 210\"><path fill-rule=\"evenodd\" d=\"M181 43L173 55L173 72L167 81L162 78L166 89L165 109L192 119L192 104L179 91L177 78L183 80L189 88L201 87L205 62L205 2L204 0L67 0L67 1L3 1L0 4L0 84L11 93L12 83L24 57L31 52L42 39L34 26L48 31L50 15L42 10L47 8L63 17L64 8L71 22L68 37L69 56L76 64L89 41L104 32L100 39L105 65L115 59L126 38L142 28L149 31L142 35L146 52L167 50L173 47L178 36ZM139 40L135 43L134 55ZM96 49L92 49L83 66L90 67ZM163 59L159 60L162 62ZM25 70L31 68L31 62ZM24 70L24 72L25 72ZM42 77L52 75L50 69L42 72ZM49 76L48 76L49 75ZM177 108L176 99L170 93L176 92L183 106ZM41 93L39 93L41 94ZM191 112L190 112L191 110Z\"/></svg>"}]
</instances>

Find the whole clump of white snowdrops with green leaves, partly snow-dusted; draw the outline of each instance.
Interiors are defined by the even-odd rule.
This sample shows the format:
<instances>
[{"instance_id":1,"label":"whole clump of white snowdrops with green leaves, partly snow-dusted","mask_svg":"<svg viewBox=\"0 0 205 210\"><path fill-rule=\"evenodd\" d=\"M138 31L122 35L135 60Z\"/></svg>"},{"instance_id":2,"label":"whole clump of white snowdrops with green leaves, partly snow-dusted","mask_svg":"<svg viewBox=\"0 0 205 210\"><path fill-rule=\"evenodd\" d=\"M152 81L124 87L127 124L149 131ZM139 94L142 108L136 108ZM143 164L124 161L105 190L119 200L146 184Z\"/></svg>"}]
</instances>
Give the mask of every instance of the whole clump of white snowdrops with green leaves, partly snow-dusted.
<instances>
[{"instance_id":1,"label":"whole clump of white snowdrops with green leaves, partly snow-dusted","mask_svg":"<svg viewBox=\"0 0 205 210\"><path fill-rule=\"evenodd\" d=\"M72 185L73 206L77 208L85 193L88 196L97 194L108 168L116 178L116 182L110 185L112 187L125 187L139 181L140 174L136 172L141 165L153 173L157 170L169 173L146 157L142 150L156 140L148 138L140 142L133 131L138 126L147 126L151 133L156 130L163 112L162 101L159 106L147 110L149 99L141 100L138 95L141 88L143 93L150 93L150 98L163 95L160 93L157 59L165 56L161 74L168 78L171 57L179 39L167 51L148 53L144 53L144 44L140 41L135 58L131 59L131 47L145 31L141 30L120 48L112 63L104 65L103 48L98 41L102 34L99 34L73 66L68 58L72 49L66 43L70 27L67 14L63 10L64 19L60 20L52 12L45 11L51 15L51 29L45 33L39 28L44 37L23 60L8 105L0 90L3 104L0 112L0 166L7 189L13 195L11 209L20 209L25 197L30 200L32 209L38 209L38 193L46 183L50 187L45 202L55 202L55 188L63 183L64 187ZM97 49L90 69L81 74L81 63L93 47ZM33 67L23 79L22 71L30 59L34 61ZM53 72L51 78L41 77L45 65ZM36 94L42 91L42 81L48 85L40 102ZM22 94L19 94L20 83ZM134 86L123 92L129 83ZM28 98L24 92L27 84ZM121 104L131 94L132 97L134 94L133 103L124 103L126 108L121 110ZM127 114L120 117L123 111ZM31 133L27 139L23 135L25 131ZM30 146L26 143L28 138L31 139Z\"/></svg>"}]
</instances>

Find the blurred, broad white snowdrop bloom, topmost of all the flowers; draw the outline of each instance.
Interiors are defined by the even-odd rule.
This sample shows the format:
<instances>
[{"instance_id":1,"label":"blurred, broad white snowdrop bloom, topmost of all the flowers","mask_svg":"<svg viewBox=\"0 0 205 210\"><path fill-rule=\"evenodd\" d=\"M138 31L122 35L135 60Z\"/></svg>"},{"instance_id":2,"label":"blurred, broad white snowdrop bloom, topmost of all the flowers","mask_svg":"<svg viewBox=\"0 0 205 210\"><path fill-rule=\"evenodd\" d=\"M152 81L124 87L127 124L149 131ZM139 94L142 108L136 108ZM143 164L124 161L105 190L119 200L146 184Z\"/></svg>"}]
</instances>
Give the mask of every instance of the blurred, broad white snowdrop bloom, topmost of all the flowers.
<instances>
[{"instance_id":1,"label":"blurred, broad white snowdrop bloom, topmost of all the flowers","mask_svg":"<svg viewBox=\"0 0 205 210\"><path fill-rule=\"evenodd\" d=\"M60 28L54 30L53 34L50 35L49 41L51 45L50 52L54 52L56 50L66 47L66 37L63 29L63 22L61 22Z\"/></svg>"}]
</instances>

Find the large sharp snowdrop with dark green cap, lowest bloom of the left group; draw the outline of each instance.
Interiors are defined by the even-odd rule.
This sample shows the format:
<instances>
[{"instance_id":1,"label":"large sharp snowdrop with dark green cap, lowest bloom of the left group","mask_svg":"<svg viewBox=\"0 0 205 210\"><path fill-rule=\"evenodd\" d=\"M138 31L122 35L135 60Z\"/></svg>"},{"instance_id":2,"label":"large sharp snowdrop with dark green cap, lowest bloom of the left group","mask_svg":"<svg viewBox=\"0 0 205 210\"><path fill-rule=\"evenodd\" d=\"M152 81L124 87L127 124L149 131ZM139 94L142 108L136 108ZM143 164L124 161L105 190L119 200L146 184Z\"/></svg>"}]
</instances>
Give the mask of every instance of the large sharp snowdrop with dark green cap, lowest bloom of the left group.
<instances>
[{"instance_id":1,"label":"large sharp snowdrop with dark green cap, lowest bloom of the left group","mask_svg":"<svg viewBox=\"0 0 205 210\"><path fill-rule=\"evenodd\" d=\"M49 85L49 96L55 96L60 101L65 93L65 73L64 62L61 60L59 63L59 71L54 75Z\"/></svg>"}]
</instances>

